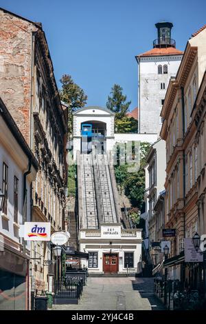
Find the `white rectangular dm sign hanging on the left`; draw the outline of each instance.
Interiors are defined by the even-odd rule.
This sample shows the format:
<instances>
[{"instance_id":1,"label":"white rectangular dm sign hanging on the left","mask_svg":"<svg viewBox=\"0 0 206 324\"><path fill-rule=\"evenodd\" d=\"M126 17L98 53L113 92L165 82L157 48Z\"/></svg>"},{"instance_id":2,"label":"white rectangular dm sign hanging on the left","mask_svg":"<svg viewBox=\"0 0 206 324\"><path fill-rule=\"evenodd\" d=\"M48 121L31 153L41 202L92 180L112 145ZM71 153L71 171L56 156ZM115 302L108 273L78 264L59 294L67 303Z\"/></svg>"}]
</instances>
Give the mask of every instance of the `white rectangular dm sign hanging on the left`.
<instances>
[{"instance_id":1,"label":"white rectangular dm sign hanging on the left","mask_svg":"<svg viewBox=\"0 0 206 324\"><path fill-rule=\"evenodd\" d=\"M25 241L50 241L51 223L26 222L24 225Z\"/></svg>"}]
</instances>

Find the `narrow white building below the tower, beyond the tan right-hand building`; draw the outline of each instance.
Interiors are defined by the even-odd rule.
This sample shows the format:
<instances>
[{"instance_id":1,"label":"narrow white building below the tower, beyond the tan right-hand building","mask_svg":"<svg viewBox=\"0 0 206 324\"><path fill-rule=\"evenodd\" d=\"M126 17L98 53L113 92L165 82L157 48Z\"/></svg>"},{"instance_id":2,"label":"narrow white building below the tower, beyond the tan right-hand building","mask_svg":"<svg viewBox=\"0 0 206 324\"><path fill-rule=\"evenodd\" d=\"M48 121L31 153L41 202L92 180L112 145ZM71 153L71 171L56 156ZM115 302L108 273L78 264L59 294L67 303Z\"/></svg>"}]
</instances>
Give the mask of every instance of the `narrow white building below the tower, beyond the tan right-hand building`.
<instances>
[{"instance_id":1,"label":"narrow white building below the tower, beyond the tan right-hand building","mask_svg":"<svg viewBox=\"0 0 206 324\"><path fill-rule=\"evenodd\" d=\"M165 142L157 140L146 156L146 212L141 215L146 220L148 238L144 248L150 253L150 261L155 267L162 261L160 242L164 226L164 183L165 183Z\"/></svg>"}]
</instances>

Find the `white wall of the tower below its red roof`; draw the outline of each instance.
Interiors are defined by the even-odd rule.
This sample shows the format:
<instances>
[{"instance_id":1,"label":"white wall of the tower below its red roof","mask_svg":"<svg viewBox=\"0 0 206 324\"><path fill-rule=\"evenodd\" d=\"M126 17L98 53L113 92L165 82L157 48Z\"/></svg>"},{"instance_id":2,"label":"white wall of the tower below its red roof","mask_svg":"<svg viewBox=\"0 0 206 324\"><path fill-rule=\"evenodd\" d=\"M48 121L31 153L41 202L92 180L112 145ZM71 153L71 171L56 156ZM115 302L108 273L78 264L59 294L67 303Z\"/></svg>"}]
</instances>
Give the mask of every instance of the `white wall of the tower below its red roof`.
<instances>
[{"instance_id":1,"label":"white wall of the tower below its red roof","mask_svg":"<svg viewBox=\"0 0 206 324\"><path fill-rule=\"evenodd\" d=\"M139 59L139 132L161 130L161 99L165 98L170 77L175 77L182 55L141 57ZM168 65L168 74L158 74L158 65ZM165 90L161 90L165 83Z\"/></svg>"}]
</instances>

